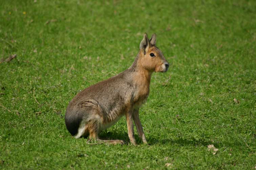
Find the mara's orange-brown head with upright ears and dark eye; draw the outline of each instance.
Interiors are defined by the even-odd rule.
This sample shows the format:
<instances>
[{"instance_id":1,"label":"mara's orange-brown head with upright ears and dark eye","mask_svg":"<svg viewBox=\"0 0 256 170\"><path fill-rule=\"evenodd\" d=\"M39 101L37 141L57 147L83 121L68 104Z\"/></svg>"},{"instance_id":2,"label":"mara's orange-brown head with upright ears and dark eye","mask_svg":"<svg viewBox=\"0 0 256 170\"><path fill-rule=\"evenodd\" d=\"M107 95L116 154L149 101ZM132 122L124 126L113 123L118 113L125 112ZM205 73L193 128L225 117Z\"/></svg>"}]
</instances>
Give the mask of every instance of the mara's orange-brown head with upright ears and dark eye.
<instances>
[{"instance_id":1,"label":"mara's orange-brown head with upright ears and dark eye","mask_svg":"<svg viewBox=\"0 0 256 170\"><path fill-rule=\"evenodd\" d=\"M140 59L142 66L151 72L167 72L169 63L162 52L155 46L156 35L152 34L150 40L144 34L140 44Z\"/></svg>"}]
</instances>

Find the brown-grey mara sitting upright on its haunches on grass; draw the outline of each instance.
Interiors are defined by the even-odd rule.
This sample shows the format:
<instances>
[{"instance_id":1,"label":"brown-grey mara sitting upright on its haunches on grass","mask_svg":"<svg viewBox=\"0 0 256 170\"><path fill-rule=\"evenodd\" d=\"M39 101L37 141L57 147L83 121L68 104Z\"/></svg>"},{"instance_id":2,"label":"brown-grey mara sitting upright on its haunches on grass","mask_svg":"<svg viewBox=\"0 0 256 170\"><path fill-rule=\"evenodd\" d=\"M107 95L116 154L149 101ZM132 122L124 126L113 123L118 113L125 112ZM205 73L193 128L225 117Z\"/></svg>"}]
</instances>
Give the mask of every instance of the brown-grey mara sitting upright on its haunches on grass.
<instances>
[{"instance_id":1,"label":"brown-grey mara sitting upright on its haunches on grass","mask_svg":"<svg viewBox=\"0 0 256 170\"><path fill-rule=\"evenodd\" d=\"M100 140L98 134L125 115L131 143L136 144L133 121L142 141L147 143L138 110L149 95L152 73L166 72L169 67L155 42L155 34L150 40L144 34L140 52L127 70L84 89L72 99L67 107L65 123L73 136L89 135L89 139L101 143L123 144L121 140Z\"/></svg>"}]
</instances>

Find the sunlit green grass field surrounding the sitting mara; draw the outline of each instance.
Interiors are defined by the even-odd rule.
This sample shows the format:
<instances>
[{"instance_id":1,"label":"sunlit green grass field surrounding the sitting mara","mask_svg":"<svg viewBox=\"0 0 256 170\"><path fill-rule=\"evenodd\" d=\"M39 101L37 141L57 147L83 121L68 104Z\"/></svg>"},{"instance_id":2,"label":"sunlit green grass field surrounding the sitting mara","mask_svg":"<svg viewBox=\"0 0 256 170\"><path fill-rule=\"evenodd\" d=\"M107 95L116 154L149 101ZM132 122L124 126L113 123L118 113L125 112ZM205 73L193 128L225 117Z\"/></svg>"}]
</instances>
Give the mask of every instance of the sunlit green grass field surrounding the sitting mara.
<instances>
[{"instance_id":1,"label":"sunlit green grass field surrounding the sitting mara","mask_svg":"<svg viewBox=\"0 0 256 170\"><path fill-rule=\"evenodd\" d=\"M0 169L255 169L255 13L254 0L0 1L0 59L17 54L0 63ZM171 64L140 109L150 145L72 138L69 101L127 69L144 32ZM125 119L100 137L128 143Z\"/></svg>"}]
</instances>

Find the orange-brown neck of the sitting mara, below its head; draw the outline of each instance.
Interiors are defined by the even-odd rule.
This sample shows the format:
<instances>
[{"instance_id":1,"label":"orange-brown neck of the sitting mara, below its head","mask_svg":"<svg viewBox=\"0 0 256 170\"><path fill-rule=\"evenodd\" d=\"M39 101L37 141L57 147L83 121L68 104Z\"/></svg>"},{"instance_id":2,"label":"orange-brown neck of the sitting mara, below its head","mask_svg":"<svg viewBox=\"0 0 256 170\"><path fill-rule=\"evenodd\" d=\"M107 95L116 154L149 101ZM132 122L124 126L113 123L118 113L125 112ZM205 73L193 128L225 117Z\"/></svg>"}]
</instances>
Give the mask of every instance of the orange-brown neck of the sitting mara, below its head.
<instances>
[{"instance_id":1,"label":"orange-brown neck of the sitting mara, below its head","mask_svg":"<svg viewBox=\"0 0 256 170\"><path fill-rule=\"evenodd\" d=\"M137 54L134 62L132 65L129 67L129 69L133 72L134 74L134 81L136 82L137 85L142 85L142 86L148 86L150 84L151 80L151 75L152 71L145 69L142 66L142 57L143 57L143 52L142 50Z\"/></svg>"}]
</instances>

